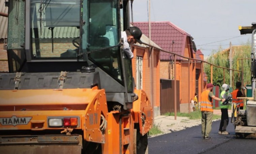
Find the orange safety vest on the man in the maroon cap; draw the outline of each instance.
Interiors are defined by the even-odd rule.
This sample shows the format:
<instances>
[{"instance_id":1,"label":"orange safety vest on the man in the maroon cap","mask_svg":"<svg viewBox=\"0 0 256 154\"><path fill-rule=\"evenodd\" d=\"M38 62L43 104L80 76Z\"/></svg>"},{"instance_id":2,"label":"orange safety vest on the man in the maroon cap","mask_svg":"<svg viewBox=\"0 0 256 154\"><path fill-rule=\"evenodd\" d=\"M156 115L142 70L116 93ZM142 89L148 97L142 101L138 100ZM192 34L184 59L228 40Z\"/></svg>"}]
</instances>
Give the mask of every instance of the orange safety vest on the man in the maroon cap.
<instances>
[{"instance_id":1,"label":"orange safety vest on the man in the maroon cap","mask_svg":"<svg viewBox=\"0 0 256 154\"><path fill-rule=\"evenodd\" d=\"M209 100L209 90L201 93L201 111L213 112L213 103Z\"/></svg>"}]
</instances>

